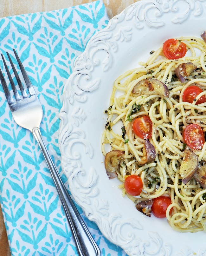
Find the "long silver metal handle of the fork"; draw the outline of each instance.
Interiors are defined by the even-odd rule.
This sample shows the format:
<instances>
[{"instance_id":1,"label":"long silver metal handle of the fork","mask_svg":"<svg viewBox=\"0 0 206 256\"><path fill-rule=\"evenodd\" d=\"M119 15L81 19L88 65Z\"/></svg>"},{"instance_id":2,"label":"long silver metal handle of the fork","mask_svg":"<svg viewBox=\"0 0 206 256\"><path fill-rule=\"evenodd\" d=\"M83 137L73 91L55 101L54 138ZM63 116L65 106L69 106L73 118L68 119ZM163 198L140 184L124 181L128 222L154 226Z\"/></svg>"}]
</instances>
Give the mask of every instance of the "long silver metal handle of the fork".
<instances>
[{"instance_id":1,"label":"long silver metal handle of the fork","mask_svg":"<svg viewBox=\"0 0 206 256\"><path fill-rule=\"evenodd\" d=\"M61 177L51 159L51 156L48 153L46 145L42 139L40 129L35 127L32 130L32 133L42 150L52 178L55 182L55 186L67 216L67 220L70 225L79 256L100 256L99 247L97 246L91 233L87 229L87 226L82 220L77 208L75 207L70 195L67 192L66 187L64 186L63 181L61 180Z\"/></svg>"}]
</instances>

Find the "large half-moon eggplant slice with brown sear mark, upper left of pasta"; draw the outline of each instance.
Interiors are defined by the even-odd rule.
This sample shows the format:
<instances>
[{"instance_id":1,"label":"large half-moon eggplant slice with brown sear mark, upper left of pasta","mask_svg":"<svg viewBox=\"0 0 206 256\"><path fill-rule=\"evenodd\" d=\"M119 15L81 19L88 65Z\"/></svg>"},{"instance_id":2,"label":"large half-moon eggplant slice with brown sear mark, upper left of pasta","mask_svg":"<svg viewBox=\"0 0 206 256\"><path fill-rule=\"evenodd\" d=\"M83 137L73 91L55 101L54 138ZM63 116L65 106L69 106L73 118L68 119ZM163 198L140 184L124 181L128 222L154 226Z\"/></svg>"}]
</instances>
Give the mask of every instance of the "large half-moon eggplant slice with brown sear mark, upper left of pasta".
<instances>
[{"instance_id":1,"label":"large half-moon eggplant slice with brown sear mark, upper left of pasta","mask_svg":"<svg viewBox=\"0 0 206 256\"><path fill-rule=\"evenodd\" d=\"M166 84L156 78L146 78L139 81L132 90L138 95L157 94L160 97L168 97L169 90Z\"/></svg>"}]
</instances>

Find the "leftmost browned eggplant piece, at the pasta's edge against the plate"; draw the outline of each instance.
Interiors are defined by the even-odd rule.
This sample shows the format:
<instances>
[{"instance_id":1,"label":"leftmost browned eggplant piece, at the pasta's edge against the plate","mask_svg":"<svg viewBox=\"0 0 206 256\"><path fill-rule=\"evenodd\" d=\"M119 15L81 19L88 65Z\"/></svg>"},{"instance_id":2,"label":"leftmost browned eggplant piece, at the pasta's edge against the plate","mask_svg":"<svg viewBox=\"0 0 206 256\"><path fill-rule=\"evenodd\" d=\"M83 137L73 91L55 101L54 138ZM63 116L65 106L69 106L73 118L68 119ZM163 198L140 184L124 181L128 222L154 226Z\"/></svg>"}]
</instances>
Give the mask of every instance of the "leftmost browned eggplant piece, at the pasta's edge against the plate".
<instances>
[{"instance_id":1,"label":"leftmost browned eggplant piece, at the pasta's edge against the plate","mask_svg":"<svg viewBox=\"0 0 206 256\"><path fill-rule=\"evenodd\" d=\"M119 169L120 161L123 154L125 153L120 150L112 150L106 154L105 168L106 174L110 180L117 177L116 171Z\"/></svg>"}]
</instances>

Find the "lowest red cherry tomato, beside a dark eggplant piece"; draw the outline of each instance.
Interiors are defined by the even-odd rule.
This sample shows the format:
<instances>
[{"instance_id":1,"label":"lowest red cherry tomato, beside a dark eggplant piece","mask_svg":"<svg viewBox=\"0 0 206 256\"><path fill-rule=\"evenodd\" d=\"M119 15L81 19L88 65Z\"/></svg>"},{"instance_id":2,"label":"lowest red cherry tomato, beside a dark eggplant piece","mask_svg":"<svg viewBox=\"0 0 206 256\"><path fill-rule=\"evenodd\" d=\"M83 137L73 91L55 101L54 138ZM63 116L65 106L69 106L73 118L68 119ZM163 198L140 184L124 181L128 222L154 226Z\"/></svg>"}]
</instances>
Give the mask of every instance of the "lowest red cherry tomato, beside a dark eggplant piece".
<instances>
[{"instance_id":1,"label":"lowest red cherry tomato, beside a dark eggplant piece","mask_svg":"<svg viewBox=\"0 0 206 256\"><path fill-rule=\"evenodd\" d=\"M152 213L157 218L165 218L166 210L169 205L171 205L171 199L166 196L159 196L153 200L153 204L151 207Z\"/></svg>"}]
</instances>

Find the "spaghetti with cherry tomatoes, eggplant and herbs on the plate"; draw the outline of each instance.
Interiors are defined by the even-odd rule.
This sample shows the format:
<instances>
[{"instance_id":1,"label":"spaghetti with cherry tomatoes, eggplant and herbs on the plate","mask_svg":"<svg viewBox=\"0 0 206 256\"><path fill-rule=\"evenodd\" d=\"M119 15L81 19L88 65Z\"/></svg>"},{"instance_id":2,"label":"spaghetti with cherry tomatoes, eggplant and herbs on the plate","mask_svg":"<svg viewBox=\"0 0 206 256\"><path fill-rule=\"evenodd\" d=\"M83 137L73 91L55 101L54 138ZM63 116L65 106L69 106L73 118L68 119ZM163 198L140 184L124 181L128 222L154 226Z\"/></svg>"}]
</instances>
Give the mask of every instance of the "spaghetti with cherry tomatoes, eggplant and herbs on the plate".
<instances>
[{"instance_id":1,"label":"spaghetti with cherry tomatoes, eggplant and herbs on the plate","mask_svg":"<svg viewBox=\"0 0 206 256\"><path fill-rule=\"evenodd\" d=\"M206 43L169 39L114 82L101 140L109 179L137 210L206 231ZM108 149L109 148L109 149Z\"/></svg>"}]
</instances>

